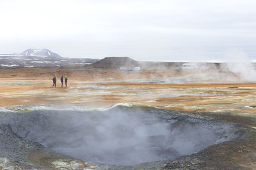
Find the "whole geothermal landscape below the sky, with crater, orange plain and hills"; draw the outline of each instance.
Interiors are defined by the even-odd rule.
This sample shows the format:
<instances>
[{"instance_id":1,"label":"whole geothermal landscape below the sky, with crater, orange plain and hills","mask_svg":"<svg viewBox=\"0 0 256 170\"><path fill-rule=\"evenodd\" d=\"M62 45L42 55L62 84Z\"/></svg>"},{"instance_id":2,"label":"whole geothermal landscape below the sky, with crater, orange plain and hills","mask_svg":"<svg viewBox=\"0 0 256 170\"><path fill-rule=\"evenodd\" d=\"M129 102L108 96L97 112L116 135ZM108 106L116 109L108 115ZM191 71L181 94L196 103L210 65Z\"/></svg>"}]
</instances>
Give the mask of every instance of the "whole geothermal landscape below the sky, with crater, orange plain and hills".
<instances>
[{"instance_id":1,"label":"whole geothermal landscape below the sky, with crater, orange plain and hills","mask_svg":"<svg viewBox=\"0 0 256 170\"><path fill-rule=\"evenodd\" d=\"M256 168L253 63L29 52L0 59L0 169Z\"/></svg>"}]
</instances>

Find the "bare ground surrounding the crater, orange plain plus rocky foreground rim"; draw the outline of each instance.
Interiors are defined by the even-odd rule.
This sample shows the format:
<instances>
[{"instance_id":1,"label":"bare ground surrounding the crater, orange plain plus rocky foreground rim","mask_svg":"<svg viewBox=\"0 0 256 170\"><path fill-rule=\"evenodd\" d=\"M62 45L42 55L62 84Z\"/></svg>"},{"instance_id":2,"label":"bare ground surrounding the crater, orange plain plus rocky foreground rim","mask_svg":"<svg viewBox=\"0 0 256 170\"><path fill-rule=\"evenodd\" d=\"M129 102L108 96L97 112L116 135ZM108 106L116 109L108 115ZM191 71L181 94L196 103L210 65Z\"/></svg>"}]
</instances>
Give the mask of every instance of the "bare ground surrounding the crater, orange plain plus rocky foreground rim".
<instances>
[{"instance_id":1,"label":"bare ground surrounding the crater, orange plain plus rocky foreground rim","mask_svg":"<svg viewBox=\"0 0 256 170\"><path fill-rule=\"evenodd\" d=\"M59 80L61 75L68 76L68 87L61 88L58 81L58 87L52 88L52 76ZM54 104L99 108L116 103L138 103L256 127L255 94L256 83L241 81L235 74L211 71L192 74L191 71L122 72L88 67L0 69L1 107ZM10 127L1 125L0 146L4 152L0 169L255 169L255 130L244 127L239 131L247 136L177 160L108 167L90 166L51 152L38 143L19 138ZM4 136L11 136L12 140L5 140L8 138ZM22 155L28 155L29 161L22 162Z\"/></svg>"}]
</instances>

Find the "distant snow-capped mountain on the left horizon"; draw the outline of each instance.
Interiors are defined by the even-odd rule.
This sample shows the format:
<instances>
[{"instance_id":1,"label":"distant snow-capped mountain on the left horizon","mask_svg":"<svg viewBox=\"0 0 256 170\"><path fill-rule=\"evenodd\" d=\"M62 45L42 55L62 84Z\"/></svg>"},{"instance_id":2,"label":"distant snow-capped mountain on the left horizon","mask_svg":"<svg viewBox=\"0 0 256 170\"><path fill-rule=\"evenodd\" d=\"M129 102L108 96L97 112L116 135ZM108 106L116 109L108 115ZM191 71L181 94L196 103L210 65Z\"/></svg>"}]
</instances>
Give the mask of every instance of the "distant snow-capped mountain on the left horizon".
<instances>
[{"instance_id":1,"label":"distant snow-capped mountain on the left horizon","mask_svg":"<svg viewBox=\"0 0 256 170\"><path fill-rule=\"evenodd\" d=\"M25 56L36 56L36 57L61 57L58 53L51 52L48 49L28 49L20 53Z\"/></svg>"}]
</instances>

